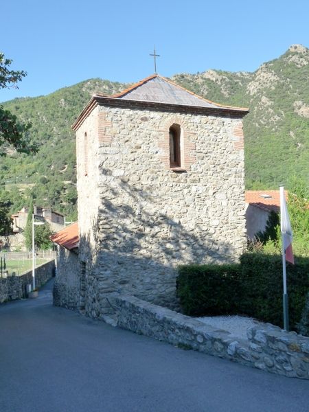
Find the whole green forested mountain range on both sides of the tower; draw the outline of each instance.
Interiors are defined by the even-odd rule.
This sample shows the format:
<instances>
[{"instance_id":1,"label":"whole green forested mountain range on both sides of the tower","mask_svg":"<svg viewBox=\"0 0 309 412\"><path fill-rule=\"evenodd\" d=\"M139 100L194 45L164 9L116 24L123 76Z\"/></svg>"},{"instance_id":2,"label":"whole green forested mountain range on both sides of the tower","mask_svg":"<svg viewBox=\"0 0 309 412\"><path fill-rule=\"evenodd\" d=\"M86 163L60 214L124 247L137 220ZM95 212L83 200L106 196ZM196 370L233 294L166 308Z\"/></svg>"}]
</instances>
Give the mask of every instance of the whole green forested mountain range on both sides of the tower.
<instances>
[{"instance_id":1,"label":"whole green forested mountain range on both sides of the tower","mask_svg":"<svg viewBox=\"0 0 309 412\"><path fill-rule=\"evenodd\" d=\"M254 73L209 70L178 74L174 82L214 102L248 106L244 118L248 189L277 188L289 176L309 179L309 49L293 45ZM139 80L139 79L137 79ZM38 154L8 151L0 161L0 196L16 211L33 196L76 218L76 151L71 124L95 93L127 84L91 79L38 98L14 99L5 108L32 122ZM4 190L6 193L3 194Z\"/></svg>"}]
</instances>

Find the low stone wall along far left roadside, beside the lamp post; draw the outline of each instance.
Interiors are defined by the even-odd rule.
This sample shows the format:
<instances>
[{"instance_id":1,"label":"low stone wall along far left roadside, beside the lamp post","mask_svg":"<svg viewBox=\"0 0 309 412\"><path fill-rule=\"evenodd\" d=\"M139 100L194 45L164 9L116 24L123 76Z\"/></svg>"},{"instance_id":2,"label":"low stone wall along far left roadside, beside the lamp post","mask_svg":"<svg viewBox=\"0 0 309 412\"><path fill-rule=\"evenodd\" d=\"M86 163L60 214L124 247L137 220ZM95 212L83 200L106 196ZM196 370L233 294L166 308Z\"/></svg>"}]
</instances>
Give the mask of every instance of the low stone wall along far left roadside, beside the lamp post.
<instances>
[{"instance_id":1,"label":"low stone wall along far left roadside, beside the lamp post","mask_svg":"<svg viewBox=\"0 0 309 412\"><path fill-rule=\"evenodd\" d=\"M40 288L49 280L55 272L55 261L41 264L36 268L36 287ZM32 284L32 271L21 276L10 276L0 279L0 304L26 297L26 285Z\"/></svg>"}]
</instances>

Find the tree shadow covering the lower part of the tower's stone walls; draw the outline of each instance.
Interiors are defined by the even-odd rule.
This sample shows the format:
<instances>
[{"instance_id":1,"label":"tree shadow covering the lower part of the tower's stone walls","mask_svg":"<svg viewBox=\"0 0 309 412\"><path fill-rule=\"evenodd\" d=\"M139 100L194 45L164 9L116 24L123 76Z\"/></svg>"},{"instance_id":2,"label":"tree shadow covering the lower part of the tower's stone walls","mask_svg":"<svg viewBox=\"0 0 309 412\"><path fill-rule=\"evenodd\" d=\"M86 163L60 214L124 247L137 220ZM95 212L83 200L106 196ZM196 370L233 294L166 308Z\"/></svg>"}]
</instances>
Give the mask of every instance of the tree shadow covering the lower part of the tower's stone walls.
<instances>
[{"instance_id":1,"label":"tree shadow covering the lower part of the tower's stone walls","mask_svg":"<svg viewBox=\"0 0 309 412\"><path fill-rule=\"evenodd\" d=\"M101 187L93 240L80 239L80 264L86 265L80 280L82 306L92 317L100 316L100 301L111 292L177 308L179 264L231 262L240 255L232 243L216 240L211 227L203 228L201 223L185 227L180 218L155 211L152 204L159 196L155 189L120 178L116 187L115 179L113 183L113 187Z\"/></svg>"}]
</instances>

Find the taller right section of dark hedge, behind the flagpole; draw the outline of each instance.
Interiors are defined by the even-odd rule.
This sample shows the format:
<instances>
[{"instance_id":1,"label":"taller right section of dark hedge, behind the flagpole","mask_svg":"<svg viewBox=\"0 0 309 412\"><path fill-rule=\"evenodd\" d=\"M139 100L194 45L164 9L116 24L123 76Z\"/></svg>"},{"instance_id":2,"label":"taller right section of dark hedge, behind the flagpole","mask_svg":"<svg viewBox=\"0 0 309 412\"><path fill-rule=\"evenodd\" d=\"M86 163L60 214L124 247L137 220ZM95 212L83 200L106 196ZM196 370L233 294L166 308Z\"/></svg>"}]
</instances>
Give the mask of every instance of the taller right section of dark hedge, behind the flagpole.
<instances>
[{"instance_id":1,"label":"taller right section of dark hedge, behind the flagpole","mask_svg":"<svg viewBox=\"0 0 309 412\"><path fill-rule=\"evenodd\" d=\"M263 253L244 253L240 258L242 281L242 312L283 327L282 319L282 257ZM301 318L309 288L309 259L295 258L287 264L287 286L290 328Z\"/></svg>"}]
</instances>

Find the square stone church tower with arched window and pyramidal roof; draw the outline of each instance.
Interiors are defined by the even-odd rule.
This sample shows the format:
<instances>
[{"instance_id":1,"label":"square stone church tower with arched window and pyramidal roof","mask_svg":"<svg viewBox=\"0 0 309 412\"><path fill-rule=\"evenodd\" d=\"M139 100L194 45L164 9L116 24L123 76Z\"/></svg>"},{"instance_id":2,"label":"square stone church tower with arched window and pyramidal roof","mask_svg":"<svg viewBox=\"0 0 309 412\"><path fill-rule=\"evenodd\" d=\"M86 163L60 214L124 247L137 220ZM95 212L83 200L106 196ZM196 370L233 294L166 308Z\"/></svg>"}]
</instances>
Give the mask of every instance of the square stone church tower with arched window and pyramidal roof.
<instances>
[{"instance_id":1,"label":"square stone church tower with arched window and pyramidal roof","mask_svg":"<svg viewBox=\"0 0 309 412\"><path fill-rule=\"evenodd\" d=\"M173 307L178 265L238 259L247 113L157 74L91 98L73 124L82 310L117 291Z\"/></svg>"}]
</instances>

